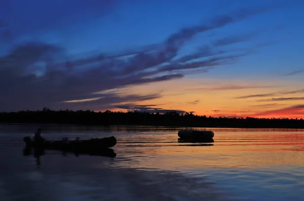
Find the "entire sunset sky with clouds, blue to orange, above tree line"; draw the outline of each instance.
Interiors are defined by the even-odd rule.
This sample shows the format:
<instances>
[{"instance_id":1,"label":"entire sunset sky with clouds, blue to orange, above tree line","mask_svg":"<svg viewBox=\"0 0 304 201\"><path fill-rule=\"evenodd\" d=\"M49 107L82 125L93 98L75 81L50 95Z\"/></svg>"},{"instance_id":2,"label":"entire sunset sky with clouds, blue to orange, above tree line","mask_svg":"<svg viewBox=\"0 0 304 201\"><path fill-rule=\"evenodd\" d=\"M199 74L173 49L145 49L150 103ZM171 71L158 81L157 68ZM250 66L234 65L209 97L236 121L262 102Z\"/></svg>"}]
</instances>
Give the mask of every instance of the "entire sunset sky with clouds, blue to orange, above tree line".
<instances>
[{"instance_id":1,"label":"entire sunset sky with clouds, blue to orange, above tree line","mask_svg":"<svg viewBox=\"0 0 304 201\"><path fill-rule=\"evenodd\" d=\"M0 1L0 111L304 117L304 1Z\"/></svg>"}]
</instances>

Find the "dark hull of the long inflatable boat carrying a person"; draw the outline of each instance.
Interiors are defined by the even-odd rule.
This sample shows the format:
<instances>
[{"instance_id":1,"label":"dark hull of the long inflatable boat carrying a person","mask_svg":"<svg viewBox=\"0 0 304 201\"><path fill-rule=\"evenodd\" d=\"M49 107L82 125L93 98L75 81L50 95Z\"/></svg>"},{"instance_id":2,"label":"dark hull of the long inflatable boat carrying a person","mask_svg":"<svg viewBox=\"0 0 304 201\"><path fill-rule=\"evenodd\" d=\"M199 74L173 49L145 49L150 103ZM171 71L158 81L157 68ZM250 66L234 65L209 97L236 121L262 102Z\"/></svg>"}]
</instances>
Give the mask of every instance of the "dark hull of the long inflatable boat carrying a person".
<instances>
[{"instance_id":1,"label":"dark hull of the long inflatable boat carrying a person","mask_svg":"<svg viewBox=\"0 0 304 201\"><path fill-rule=\"evenodd\" d=\"M68 140L68 138L63 138L62 140L48 141L40 140L35 142L31 137L26 136L23 138L23 141L26 144L26 147L33 148L43 148L43 149L52 149L52 150L66 150L73 152L96 152L102 151L103 149L113 147L116 145L117 140L114 136L105 137L105 138L92 138L88 140Z\"/></svg>"}]
</instances>

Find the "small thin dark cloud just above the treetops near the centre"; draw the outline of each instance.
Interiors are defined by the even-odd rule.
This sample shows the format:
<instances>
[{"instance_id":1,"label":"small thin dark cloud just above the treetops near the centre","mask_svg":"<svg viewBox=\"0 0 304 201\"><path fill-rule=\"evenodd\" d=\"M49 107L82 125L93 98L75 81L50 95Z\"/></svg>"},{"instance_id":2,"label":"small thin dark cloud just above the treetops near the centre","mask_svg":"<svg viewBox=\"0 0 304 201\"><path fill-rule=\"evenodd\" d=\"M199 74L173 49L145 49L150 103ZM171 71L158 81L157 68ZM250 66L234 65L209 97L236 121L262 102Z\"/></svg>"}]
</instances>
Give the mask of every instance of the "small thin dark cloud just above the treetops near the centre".
<instances>
[{"instance_id":1,"label":"small thin dark cloud just above the treetops near the centre","mask_svg":"<svg viewBox=\"0 0 304 201\"><path fill-rule=\"evenodd\" d=\"M177 112L185 113L184 110L178 109L163 109L160 107L151 107L155 105L116 105L120 109L127 109L128 111L137 111L137 112L148 112L148 113L166 113L166 112Z\"/></svg>"}]
</instances>

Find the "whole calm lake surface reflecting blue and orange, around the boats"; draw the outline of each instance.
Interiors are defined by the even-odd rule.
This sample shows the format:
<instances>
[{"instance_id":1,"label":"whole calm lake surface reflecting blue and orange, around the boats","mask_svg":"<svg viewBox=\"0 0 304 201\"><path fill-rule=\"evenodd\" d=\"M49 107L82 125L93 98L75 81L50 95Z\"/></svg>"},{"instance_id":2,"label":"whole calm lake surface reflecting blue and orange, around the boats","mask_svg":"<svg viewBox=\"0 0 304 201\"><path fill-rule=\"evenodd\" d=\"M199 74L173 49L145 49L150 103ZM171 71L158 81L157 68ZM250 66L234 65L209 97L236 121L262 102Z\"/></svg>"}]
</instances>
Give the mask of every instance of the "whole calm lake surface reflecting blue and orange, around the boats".
<instances>
[{"instance_id":1,"label":"whole calm lake surface reflecting blue and orange, around the boats","mask_svg":"<svg viewBox=\"0 0 304 201\"><path fill-rule=\"evenodd\" d=\"M0 200L304 200L304 131L43 125L47 139L115 136L116 157L23 155L37 125L0 125Z\"/></svg>"}]
</instances>

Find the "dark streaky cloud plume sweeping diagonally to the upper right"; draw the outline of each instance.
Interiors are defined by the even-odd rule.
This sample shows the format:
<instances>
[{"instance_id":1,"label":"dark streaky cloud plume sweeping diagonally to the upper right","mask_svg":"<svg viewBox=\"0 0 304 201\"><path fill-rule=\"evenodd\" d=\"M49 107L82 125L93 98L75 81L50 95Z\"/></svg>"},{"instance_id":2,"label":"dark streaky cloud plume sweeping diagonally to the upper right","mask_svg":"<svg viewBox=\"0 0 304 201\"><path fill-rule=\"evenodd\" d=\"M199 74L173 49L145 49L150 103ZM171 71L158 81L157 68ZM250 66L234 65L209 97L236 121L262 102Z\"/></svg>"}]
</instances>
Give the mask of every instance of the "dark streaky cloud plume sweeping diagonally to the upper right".
<instances>
[{"instance_id":1,"label":"dark streaky cloud plume sweeping diagonally to the upper right","mask_svg":"<svg viewBox=\"0 0 304 201\"><path fill-rule=\"evenodd\" d=\"M164 48L161 51L158 51L154 55L146 55L146 54L139 54L134 61L139 62L141 65L133 65L132 67L127 68L125 72L134 72L136 70L142 69L142 68L150 68L155 67L156 65L160 65L162 63L166 63L171 61L176 55L178 50L188 41L190 41L196 34L201 32L206 32L209 30L217 29L220 27L223 27L225 25L231 24L233 22L243 20L247 17L250 17L255 14L263 13L268 10L272 9L272 7L261 7L261 8L253 8L253 9L239 9L235 12L232 12L231 14L221 15L214 17L211 19L207 25L197 25L193 27L186 27L181 29L180 31L171 34L168 39L164 42L163 46ZM214 66L214 65L221 65L223 61L225 60L232 60L234 58L243 57L248 55L248 52L243 54L237 54L237 55L225 55L222 56L224 52L218 52L218 53L210 53L209 47L206 51L203 51L203 53L194 53L193 55L187 55L183 57L179 62L183 63L177 63L177 62L171 62L163 67L160 68L161 71L172 71L172 70L179 70L179 69L195 69L195 68L201 68L206 66ZM202 50L200 50L202 52ZM206 58L207 56L217 56L215 58L210 58L204 61L196 61L192 63L185 63L187 61L192 61L193 59L202 59ZM144 62L143 59L145 58ZM141 62L141 63L140 63ZM140 67L139 67L140 66Z\"/></svg>"}]
</instances>

